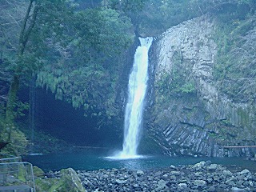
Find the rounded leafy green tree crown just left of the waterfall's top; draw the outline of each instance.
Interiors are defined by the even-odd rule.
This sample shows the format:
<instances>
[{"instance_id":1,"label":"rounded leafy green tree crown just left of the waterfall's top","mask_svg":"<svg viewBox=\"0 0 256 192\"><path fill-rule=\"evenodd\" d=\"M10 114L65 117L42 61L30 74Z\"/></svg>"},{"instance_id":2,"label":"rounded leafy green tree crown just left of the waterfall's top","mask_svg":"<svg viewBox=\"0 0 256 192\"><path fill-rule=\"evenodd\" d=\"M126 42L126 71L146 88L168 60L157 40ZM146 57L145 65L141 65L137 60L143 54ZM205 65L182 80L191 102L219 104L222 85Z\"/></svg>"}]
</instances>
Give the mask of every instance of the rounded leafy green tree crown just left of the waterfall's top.
<instances>
[{"instance_id":1,"label":"rounded leafy green tree crown just left of the waterfall's top","mask_svg":"<svg viewBox=\"0 0 256 192\"><path fill-rule=\"evenodd\" d=\"M133 42L134 35L128 32L131 26L130 18L115 10L80 11L74 21L74 56L82 58L78 62L83 64L102 65Z\"/></svg>"}]
</instances>

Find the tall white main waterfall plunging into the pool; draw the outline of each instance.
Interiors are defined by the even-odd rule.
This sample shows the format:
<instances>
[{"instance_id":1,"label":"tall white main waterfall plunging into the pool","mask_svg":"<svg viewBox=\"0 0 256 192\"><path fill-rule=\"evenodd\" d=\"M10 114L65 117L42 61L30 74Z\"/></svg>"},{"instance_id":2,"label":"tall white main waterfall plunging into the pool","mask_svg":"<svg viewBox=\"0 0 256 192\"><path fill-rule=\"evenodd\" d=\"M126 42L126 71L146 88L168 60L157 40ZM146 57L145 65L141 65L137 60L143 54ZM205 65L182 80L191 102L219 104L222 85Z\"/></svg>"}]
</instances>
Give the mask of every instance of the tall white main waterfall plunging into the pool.
<instances>
[{"instance_id":1,"label":"tall white main waterfall plunging into the pool","mask_svg":"<svg viewBox=\"0 0 256 192\"><path fill-rule=\"evenodd\" d=\"M134 54L134 65L130 73L128 85L128 101L126 103L124 122L124 141L119 158L136 158L139 143L139 133L142 126L144 98L148 80L148 51L153 38L139 38Z\"/></svg>"}]
</instances>

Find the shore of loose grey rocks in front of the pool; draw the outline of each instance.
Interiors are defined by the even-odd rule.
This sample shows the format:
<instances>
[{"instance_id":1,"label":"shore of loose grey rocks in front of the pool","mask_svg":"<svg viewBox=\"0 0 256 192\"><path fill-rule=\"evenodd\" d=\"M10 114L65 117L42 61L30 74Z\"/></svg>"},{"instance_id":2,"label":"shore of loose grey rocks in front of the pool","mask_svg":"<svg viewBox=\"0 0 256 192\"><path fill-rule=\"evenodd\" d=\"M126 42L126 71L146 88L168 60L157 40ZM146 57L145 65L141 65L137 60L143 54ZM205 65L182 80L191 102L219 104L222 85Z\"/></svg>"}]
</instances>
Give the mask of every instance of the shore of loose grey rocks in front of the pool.
<instances>
[{"instance_id":1,"label":"shore of loose grey rocks in front of the pool","mask_svg":"<svg viewBox=\"0 0 256 192\"><path fill-rule=\"evenodd\" d=\"M87 191L256 191L256 174L210 161L162 170L77 171ZM58 172L54 173L58 177Z\"/></svg>"}]
</instances>

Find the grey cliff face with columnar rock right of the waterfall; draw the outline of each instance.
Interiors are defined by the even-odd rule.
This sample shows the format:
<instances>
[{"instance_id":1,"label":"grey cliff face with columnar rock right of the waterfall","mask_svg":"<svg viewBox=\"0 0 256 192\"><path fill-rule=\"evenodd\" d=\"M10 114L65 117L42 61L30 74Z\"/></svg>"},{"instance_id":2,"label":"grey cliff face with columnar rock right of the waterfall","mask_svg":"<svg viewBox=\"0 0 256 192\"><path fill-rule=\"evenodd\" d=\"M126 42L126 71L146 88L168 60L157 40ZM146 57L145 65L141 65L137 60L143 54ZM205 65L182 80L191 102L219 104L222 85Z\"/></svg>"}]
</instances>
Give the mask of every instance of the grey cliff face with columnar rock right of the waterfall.
<instances>
[{"instance_id":1,"label":"grey cliff face with columnar rock right of the waterfall","mask_svg":"<svg viewBox=\"0 0 256 192\"><path fill-rule=\"evenodd\" d=\"M252 156L256 143L254 100L239 102L214 78L216 26L206 16L173 26L155 42L147 123L166 154ZM249 88L250 89L250 88ZM234 102L236 101L236 102Z\"/></svg>"}]
</instances>

